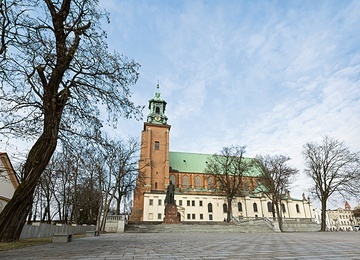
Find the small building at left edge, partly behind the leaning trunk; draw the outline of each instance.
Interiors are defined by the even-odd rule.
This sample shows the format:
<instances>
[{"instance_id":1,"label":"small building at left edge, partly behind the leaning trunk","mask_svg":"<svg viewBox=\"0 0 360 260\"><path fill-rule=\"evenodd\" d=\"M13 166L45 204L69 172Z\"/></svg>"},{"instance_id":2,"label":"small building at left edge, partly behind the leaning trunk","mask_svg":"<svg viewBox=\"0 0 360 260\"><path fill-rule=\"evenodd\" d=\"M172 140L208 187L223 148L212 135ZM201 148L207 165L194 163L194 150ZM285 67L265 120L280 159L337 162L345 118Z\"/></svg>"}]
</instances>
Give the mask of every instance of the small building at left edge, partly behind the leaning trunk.
<instances>
[{"instance_id":1,"label":"small building at left edge, partly behind the leaning trunk","mask_svg":"<svg viewBox=\"0 0 360 260\"><path fill-rule=\"evenodd\" d=\"M7 153L0 152L0 212L12 198L19 181Z\"/></svg>"}]
</instances>

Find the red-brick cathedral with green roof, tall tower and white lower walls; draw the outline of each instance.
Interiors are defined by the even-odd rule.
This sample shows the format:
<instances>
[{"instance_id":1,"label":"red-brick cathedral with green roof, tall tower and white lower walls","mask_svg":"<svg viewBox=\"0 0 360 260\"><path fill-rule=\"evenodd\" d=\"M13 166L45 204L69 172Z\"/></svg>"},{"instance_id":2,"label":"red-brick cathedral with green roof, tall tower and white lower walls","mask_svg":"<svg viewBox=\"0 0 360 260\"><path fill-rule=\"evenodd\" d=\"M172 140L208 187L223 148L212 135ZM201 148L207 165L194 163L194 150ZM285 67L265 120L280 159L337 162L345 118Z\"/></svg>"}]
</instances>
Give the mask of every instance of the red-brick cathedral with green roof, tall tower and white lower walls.
<instances>
[{"instance_id":1,"label":"red-brick cathedral with green roof, tall tower and white lower walls","mask_svg":"<svg viewBox=\"0 0 360 260\"><path fill-rule=\"evenodd\" d=\"M170 128L165 115L166 102L159 86L149 100L149 114L141 133L139 173L134 191L131 222L163 222L168 185L175 187L174 200L181 222L223 221L228 207L237 219L272 217L272 203L257 187L260 172L244 175L246 190L235 196L232 205L215 192L215 178L205 171L211 154L169 151ZM284 218L312 219L312 205L303 196L295 199L288 192L281 201Z\"/></svg>"}]
</instances>

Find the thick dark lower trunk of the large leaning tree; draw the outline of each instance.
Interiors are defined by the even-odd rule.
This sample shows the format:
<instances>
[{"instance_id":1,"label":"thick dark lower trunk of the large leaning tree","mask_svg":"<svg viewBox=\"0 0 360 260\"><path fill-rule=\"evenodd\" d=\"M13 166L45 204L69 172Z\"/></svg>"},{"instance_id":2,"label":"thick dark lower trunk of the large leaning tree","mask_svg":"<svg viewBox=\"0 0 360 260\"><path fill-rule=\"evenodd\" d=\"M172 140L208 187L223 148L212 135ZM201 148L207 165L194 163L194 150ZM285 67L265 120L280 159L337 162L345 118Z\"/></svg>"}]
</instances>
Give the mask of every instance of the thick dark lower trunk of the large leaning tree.
<instances>
[{"instance_id":1,"label":"thick dark lower trunk of the large leaning tree","mask_svg":"<svg viewBox=\"0 0 360 260\"><path fill-rule=\"evenodd\" d=\"M66 100L61 103L58 99L51 98L48 106L45 106L44 131L28 154L23 168L23 181L0 214L0 242L11 242L20 238L32 206L35 188L56 149L65 103Z\"/></svg>"}]
</instances>

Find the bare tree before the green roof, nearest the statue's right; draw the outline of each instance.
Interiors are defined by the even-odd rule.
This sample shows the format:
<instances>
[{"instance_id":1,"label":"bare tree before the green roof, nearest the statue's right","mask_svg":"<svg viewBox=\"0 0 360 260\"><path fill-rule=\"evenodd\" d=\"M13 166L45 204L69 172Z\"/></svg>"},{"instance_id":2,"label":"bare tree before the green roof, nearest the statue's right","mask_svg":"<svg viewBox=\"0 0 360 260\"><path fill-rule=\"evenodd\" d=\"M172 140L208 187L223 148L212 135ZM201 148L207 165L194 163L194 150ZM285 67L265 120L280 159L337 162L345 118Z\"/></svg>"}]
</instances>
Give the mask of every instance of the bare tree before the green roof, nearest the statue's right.
<instances>
[{"instance_id":1,"label":"bare tree before the green roof, nearest the statue's right","mask_svg":"<svg viewBox=\"0 0 360 260\"><path fill-rule=\"evenodd\" d=\"M249 168L249 161L244 158L244 153L244 146L230 146L208 159L206 172L214 176L215 185L226 196L227 221L232 216L232 200L241 192L243 175Z\"/></svg>"}]
</instances>

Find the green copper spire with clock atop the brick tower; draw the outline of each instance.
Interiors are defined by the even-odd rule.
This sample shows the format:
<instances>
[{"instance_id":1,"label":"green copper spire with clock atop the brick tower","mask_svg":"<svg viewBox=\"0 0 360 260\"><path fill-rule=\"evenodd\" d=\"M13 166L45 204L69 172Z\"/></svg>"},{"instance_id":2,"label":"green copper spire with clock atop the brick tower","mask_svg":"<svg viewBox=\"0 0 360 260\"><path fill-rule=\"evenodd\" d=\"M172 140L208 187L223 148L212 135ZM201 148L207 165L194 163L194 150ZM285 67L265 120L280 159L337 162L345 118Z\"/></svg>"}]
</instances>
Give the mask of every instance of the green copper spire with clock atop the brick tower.
<instances>
[{"instance_id":1,"label":"green copper spire with clock atop the brick tower","mask_svg":"<svg viewBox=\"0 0 360 260\"><path fill-rule=\"evenodd\" d=\"M166 101L160 97L159 83L156 86L155 97L149 100L150 113L147 116L147 122L152 124L167 124L165 115Z\"/></svg>"}]
</instances>

